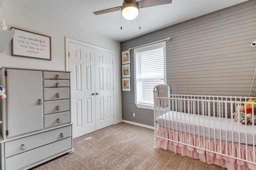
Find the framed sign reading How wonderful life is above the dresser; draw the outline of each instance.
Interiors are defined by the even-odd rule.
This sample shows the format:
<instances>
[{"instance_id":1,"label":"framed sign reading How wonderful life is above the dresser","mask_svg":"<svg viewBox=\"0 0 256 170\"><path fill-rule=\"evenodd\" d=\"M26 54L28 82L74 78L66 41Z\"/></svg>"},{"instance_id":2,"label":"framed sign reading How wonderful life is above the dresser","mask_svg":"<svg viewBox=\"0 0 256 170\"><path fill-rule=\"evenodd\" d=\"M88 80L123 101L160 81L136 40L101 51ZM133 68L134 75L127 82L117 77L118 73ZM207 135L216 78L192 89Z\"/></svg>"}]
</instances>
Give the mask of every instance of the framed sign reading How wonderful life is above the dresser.
<instances>
[{"instance_id":1,"label":"framed sign reading How wonderful life is above the dresser","mask_svg":"<svg viewBox=\"0 0 256 170\"><path fill-rule=\"evenodd\" d=\"M14 28L12 56L51 60L51 37Z\"/></svg>"}]
</instances>

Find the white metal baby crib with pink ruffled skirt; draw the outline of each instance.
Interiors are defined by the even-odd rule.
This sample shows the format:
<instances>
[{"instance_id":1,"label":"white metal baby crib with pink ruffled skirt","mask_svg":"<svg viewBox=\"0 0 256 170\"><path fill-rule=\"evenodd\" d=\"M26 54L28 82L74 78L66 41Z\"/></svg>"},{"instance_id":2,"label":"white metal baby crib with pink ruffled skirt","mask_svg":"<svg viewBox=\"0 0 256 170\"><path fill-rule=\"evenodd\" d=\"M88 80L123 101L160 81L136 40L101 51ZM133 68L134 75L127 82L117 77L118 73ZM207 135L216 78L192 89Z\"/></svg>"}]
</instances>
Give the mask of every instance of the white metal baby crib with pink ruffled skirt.
<instances>
[{"instance_id":1,"label":"white metal baby crib with pink ruffled skirt","mask_svg":"<svg viewBox=\"0 0 256 170\"><path fill-rule=\"evenodd\" d=\"M256 170L256 115L252 125L232 117L236 105L244 105L247 115L246 104L251 104L254 113L256 103L246 102L251 98L168 93L159 97L154 87L155 147L228 170Z\"/></svg>"}]
</instances>

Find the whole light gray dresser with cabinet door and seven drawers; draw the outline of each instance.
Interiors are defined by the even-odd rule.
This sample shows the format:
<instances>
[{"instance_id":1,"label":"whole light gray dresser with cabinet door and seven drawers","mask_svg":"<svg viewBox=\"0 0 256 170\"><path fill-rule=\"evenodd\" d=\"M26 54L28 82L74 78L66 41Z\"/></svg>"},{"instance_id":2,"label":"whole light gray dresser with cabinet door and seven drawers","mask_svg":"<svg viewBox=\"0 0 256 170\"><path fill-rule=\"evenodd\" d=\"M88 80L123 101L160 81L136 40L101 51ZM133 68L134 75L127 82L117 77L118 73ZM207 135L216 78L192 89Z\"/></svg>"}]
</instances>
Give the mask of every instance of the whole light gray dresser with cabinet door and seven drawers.
<instances>
[{"instance_id":1,"label":"whole light gray dresser with cabinet door and seven drawers","mask_svg":"<svg viewBox=\"0 0 256 170\"><path fill-rule=\"evenodd\" d=\"M29 169L73 153L70 72L1 68L1 170Z\"/></svg>"}]
</instances>

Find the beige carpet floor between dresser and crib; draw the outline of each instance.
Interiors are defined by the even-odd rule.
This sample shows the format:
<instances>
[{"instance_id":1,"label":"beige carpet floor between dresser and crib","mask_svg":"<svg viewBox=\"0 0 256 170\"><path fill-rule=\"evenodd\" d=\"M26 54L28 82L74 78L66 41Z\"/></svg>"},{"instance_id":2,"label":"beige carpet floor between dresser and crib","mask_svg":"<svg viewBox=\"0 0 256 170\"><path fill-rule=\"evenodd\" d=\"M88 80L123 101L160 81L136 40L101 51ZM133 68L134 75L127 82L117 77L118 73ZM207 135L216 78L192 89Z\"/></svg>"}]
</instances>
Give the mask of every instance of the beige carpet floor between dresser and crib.
<instances>
[{"instance_id":1,"label":"beige carpet floor between dresser and crib","mask_svg":"<svg viewBox=\"0 0 256 170\"><path fill-rule=\"evenodd\" d=\"M154 148L154 130L118 123L76 138L74 153L33 170L226 170Z\"/></svg>"}]
</instances>

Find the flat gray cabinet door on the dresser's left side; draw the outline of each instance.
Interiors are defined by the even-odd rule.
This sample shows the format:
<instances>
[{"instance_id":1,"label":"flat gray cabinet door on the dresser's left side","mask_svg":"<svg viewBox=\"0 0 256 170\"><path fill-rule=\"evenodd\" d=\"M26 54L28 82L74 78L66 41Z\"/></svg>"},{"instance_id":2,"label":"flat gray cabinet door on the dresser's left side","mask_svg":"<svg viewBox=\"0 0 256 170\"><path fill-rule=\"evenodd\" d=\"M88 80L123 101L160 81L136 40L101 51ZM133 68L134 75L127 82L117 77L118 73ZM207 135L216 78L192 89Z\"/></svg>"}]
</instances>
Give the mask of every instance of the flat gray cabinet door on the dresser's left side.
<instances>
[{"instance_id":1,"label":"flat gray cabinet door on the dresser's left side","mask_svg":"<svg viewBox=\"0 0 256 170\"><path fill-rule=\"evenodd\" d=\"M7 137L43 129L42 71L7 69L6 80Z\"/></svg>"}]
</instances>

